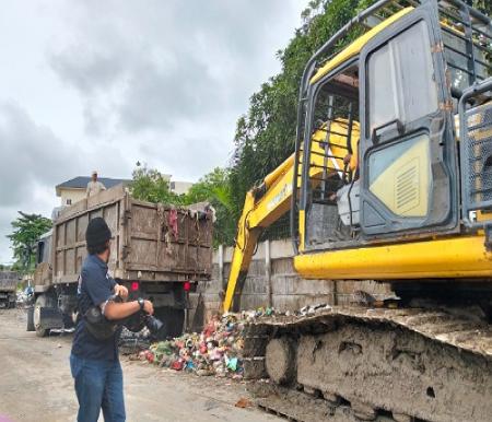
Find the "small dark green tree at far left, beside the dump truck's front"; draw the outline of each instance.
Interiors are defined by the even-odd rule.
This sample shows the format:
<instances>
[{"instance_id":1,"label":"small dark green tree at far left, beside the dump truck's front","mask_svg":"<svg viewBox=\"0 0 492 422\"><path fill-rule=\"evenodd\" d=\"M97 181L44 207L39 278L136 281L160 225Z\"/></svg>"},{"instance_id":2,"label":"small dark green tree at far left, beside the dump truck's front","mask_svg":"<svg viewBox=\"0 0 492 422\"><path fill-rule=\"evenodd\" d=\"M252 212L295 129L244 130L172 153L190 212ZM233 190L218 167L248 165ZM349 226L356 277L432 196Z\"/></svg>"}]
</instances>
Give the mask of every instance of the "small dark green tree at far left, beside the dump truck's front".
<instances>
[{"instance_id":1,"label":"small dark green tree at far left, beside the dump truck's front","mask_svg":"<svg viewBox=\"0 0 492 422\"><path fill-rule=\"evenodd\" d=\"M13 232L7 237L11 242L15 259L12 269L21 273L32 272L36 265L37 239L49 228L51 220L39 214L26 214L19 211L20 216L11 225Z\"/></svg>"}]
</instances>

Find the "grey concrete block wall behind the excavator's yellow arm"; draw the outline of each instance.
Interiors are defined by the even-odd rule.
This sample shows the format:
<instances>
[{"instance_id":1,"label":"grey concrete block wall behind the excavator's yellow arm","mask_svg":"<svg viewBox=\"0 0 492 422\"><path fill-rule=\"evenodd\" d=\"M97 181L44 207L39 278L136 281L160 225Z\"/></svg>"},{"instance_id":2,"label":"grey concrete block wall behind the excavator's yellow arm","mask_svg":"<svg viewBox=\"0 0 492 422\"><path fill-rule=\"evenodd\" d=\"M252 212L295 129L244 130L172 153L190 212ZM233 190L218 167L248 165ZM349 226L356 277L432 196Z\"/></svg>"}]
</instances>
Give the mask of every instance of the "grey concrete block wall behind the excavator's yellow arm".
<instances>
[{"instance_id":1,"label":"grey concrete block wall behind the excavator's yellow arm","mask_svg":"<svg viewBox=\"0 0 492 422\"><path fill-rule=\"evenodd\" d=\"M221 310L221 292L225 290L232 254L232 247L219 248L213 255L212 279L200 283L197 293L190 294L191 328L199 329L204 320ZM273 306L295 310L308 304L348 304L353 302L354 292L361 290L376 297L389 293L387 285L373 281L302 279L293 268L293 256L290 239L258 245L243 290L242 309Z\"/></svg>"}]
</instances>

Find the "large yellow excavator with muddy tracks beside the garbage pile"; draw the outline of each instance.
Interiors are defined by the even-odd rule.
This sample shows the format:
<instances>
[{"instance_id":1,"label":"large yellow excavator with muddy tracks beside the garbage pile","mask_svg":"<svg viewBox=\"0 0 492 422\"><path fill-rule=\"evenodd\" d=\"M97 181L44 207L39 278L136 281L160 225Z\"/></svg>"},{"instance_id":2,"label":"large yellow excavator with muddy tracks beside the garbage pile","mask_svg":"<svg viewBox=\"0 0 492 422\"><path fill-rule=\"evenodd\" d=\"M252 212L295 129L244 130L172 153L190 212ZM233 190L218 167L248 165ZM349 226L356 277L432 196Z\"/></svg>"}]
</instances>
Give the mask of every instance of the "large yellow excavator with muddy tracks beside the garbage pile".
<instances>
[{"instance_id":1,"label":"large yellow excavator with muddy tracks beside the garbage pile","mask_svg":"<svg viewBox=\"0 0 492 422\"><path fill-rule=\"evenodd\" d=\"M259 406L492 420L491 57L491 20L467 3L380 0L306 65L295 152L246 196L224 310L288 211L300 277L389 283L396 300L251 324Z\"/></svg>"}]
</instances>

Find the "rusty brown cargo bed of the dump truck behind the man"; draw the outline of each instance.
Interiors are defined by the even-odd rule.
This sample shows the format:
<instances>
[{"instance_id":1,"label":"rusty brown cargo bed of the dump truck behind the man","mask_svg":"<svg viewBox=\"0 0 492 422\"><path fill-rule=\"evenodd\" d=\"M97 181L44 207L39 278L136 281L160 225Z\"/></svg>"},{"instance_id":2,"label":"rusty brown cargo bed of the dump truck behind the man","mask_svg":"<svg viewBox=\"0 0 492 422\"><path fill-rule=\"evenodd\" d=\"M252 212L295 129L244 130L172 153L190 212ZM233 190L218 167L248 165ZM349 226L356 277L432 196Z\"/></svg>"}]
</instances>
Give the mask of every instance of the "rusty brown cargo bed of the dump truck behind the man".
<instances>
[{"instance_id":1,"label":"rusty brown cargo bed of the dump truck behind the man","mask_svg":"<svg viewBox=\"0 0 492 422\"><path fill-rule=\"evenodd\" d=\"M54 223L52 283L77 282L89 221L102 216L113 237L109 271L119 280L207 280L212 269L212 219L186 208L131 198L122 186L63 210Z\"/></svg>"}]
</instances>

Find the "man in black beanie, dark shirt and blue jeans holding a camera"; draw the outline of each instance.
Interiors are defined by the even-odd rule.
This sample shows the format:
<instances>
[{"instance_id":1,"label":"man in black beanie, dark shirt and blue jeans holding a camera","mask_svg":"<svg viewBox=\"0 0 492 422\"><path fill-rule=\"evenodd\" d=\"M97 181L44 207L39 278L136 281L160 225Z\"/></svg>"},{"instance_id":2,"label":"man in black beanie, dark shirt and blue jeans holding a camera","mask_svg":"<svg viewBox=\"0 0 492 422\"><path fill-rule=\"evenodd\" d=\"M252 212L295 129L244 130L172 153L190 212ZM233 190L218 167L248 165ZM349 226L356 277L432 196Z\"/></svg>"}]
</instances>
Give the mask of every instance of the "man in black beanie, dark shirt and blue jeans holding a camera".
<instances>
[{"instance_id":1,"label":"man in black beanie, dark shirt and blue jeans holding a camera","mask_svg":"<svg viewBox=\"0 0 492 422\"><path fill-rule=\"evenodd\" d=\"M105 422L124 422L125 400L122 372L118 359L118 338L121 329L107 339L94 337L86 327L84 315L98 306L109 321L124 319L137 312L152 315L149 301L116 303L112 296L128 298L128 290L107 273L112 233L102 218L90 221L85 233L89 256L79 278L79 320L73 338L70 367L79 400L78 422L97 422L103 409Z\"/></svg>"}]
</instances>

